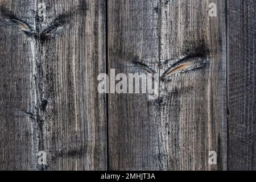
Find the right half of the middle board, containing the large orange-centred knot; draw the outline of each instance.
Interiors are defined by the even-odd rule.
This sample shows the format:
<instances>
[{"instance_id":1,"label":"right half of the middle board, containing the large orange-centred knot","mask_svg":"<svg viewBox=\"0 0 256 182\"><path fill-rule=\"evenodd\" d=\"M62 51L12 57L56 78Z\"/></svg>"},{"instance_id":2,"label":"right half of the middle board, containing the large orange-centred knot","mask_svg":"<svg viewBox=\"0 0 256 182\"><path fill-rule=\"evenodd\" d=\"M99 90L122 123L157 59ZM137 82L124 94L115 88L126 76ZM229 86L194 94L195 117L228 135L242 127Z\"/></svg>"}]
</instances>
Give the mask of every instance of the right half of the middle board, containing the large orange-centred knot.
<instances>
[{"instance_id":1,"label":"right half of the middle board, containing the large orange-centred knot","mask_svg":"<svg viewBox=\"0 0 256 182\"><path fill-rule=\"evenodd\" d=\"M161 169L226 169L225 1L160 7ZM210 151L217 165L208 163Z\"/></svg>"}]
</instances>

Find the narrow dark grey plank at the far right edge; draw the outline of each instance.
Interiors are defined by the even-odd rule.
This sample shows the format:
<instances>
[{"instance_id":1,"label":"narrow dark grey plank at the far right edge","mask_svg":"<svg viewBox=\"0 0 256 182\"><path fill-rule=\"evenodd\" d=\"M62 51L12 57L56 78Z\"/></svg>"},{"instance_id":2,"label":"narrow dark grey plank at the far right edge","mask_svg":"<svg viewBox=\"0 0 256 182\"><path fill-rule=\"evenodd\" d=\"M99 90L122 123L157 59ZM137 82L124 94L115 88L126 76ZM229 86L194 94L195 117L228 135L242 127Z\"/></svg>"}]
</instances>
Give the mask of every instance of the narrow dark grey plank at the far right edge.
<instances>
[{"instance_id":1,"label":"narrow dark grey plank at the far right edge","mask_svg":"<svg viewBox=\"0 0 256 182\"><path fill-rule=\"evenodd\" d=\"M256 2L228 0L228 169L256 169Z\"/></svg>"}]
</instances>

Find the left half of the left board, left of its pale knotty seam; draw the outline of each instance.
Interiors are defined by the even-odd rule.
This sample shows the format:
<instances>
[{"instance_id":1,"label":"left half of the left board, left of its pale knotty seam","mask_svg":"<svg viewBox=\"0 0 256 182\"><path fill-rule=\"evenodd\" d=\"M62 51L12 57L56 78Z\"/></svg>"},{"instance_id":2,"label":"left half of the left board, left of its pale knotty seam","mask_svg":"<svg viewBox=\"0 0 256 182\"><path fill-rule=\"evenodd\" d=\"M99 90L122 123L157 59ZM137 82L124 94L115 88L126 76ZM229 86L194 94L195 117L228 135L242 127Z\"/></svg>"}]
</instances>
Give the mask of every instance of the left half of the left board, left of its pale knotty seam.
<instances>
[{"instance_id":1,"label":"left half of the left board, left of its pale knotty seam","mask_svg":"<svg viewBox=\"0 0 256 182\"><path fill-rule=\"evenodd\" d=\"M0 1L0 170L36 169L34 57L22 31L34 16L34 1Z\"/></svg>"}]
</instances>

